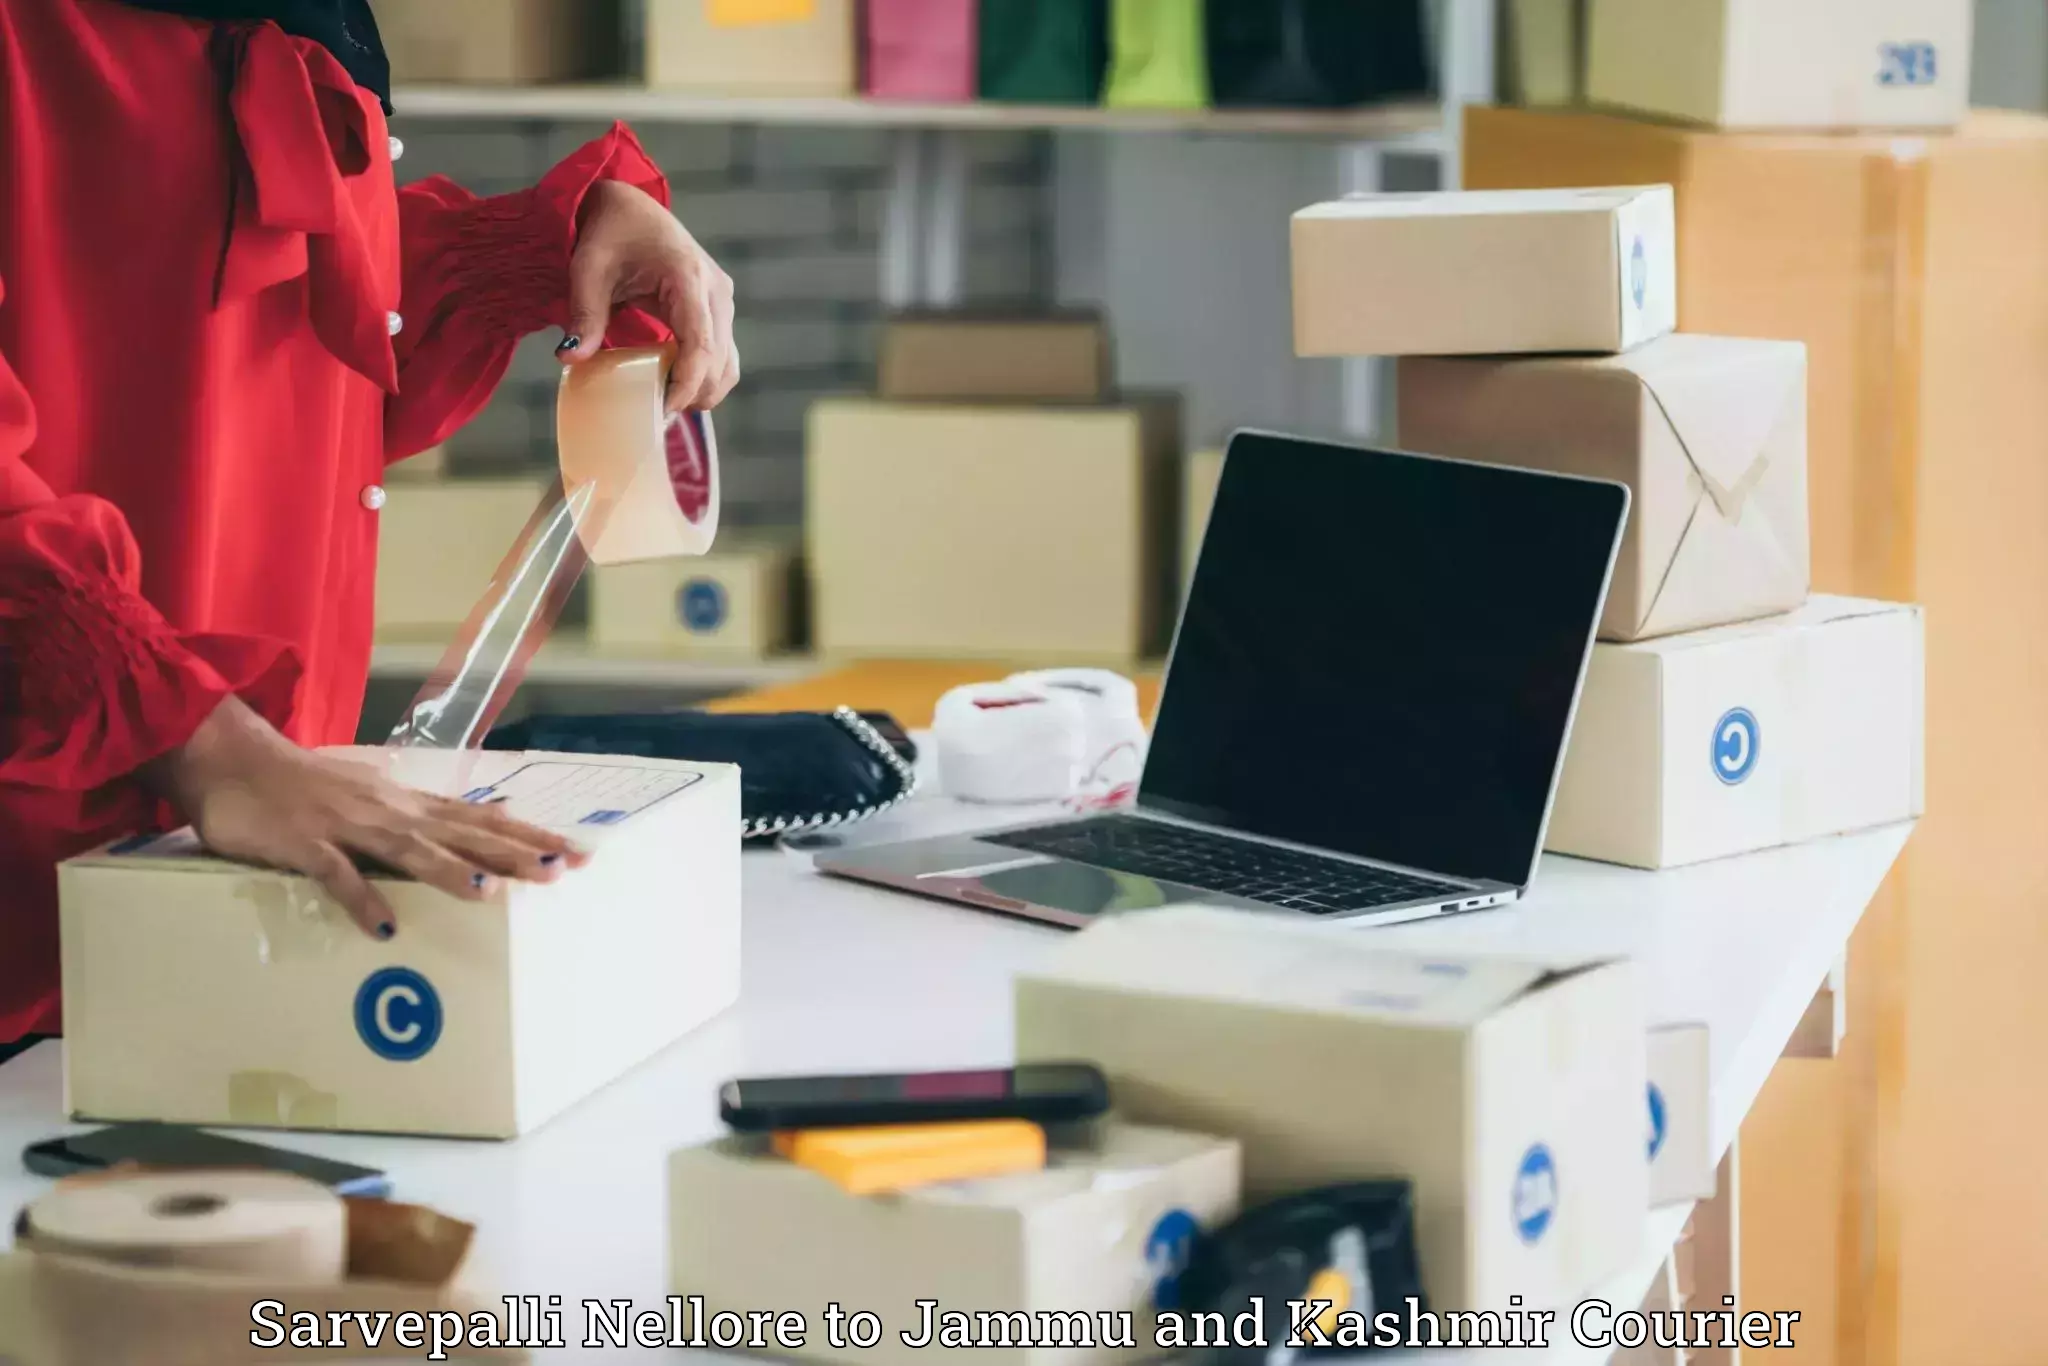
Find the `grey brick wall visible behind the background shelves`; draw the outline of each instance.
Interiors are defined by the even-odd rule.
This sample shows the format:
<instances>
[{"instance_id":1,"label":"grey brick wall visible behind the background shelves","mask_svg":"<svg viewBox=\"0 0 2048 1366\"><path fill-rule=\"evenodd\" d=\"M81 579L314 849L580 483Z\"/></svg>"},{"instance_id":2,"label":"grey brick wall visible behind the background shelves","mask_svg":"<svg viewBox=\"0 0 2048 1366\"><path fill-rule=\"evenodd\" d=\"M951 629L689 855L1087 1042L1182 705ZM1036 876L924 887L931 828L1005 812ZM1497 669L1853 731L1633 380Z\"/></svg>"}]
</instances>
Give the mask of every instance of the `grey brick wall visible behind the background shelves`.
<instances>
[{"instance_id":1,"label":"grey brick wall visible behind the background shelves","mask_svg":"<svg viewBox=\"0 0 2048 1366\"><path fill-rule=\"evenodd\" d=\"M479 195L532 184L598 125L393 121L401 178L446 174ZM803 414L823 393L870 389L881 317L881 129L645 125L676 213L733 276L743 381L717 414L725 514L793 524L803 506ZM1053 293L1051 141L977 133L971 154L967 303L1032 305ZM551 459L555 336L520 346L494 403L451 444L461 471Z\"/></svg>"}]
</instances>

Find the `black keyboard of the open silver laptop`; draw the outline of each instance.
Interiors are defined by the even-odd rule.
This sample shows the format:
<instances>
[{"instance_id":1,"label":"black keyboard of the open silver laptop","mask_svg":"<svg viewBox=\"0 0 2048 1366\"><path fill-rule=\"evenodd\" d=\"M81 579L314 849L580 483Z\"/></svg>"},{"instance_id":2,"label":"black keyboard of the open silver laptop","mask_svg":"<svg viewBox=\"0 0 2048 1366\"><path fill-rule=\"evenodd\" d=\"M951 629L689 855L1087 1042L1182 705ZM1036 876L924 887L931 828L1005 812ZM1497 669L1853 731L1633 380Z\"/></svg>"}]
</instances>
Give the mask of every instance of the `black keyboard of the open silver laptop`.
<instances>
[{"instance_id":1,"label":"black keyboard of the open silver laptop","mask_svg":"<svg viewBox=\"0 0 2048 1366\"><path fill-rule=\"evenodd\" d=\"M1341 858L1298 854L1251 840L1233 840L1200 829L1128 815L1100 815L1063 825L1034 825L979 836L1028 854L1051 854L1073 862L1186 883L1202 891L1264 901L1311 915L1368 911L1468 889L1427 877L1368 868Z\"/></svg>"}]
</instances>

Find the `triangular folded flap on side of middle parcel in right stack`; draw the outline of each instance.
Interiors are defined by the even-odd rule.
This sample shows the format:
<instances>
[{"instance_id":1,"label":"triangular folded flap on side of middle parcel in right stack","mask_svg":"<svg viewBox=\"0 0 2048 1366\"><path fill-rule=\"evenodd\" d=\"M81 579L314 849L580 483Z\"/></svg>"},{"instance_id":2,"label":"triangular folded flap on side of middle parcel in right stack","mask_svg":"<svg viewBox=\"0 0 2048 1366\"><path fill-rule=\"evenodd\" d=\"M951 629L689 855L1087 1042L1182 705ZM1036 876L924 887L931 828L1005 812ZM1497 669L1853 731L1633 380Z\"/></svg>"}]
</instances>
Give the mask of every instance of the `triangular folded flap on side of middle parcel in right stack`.
<instances>
[{"instance_id":1,"label":"triangular folded flap on side of middle parcel in right stack","mask_svg":"<svg viewBox=\"0 0 2048 1366\"><path fill-rule=\"evenodd\" d=\"M1759 365L1753 350L1729 350L1716 362L1708 346L1688 344L1692 338L1671 338L1659 348L1657 362L1638 371L1651 401L1671 424L1679 449L1694 475L1722 518L1735 522L1751 489L1769 469L1769 436L1784 420L1786 403L1804 383L1804 367ZM1712 344L1716 338L1698 338ZM1776 348L1772 348L1776 352ZM1741 381L1731 379L1741 371ZM1741 391L1743 401L1729 401Z\"/></svg>"}]
</instances>

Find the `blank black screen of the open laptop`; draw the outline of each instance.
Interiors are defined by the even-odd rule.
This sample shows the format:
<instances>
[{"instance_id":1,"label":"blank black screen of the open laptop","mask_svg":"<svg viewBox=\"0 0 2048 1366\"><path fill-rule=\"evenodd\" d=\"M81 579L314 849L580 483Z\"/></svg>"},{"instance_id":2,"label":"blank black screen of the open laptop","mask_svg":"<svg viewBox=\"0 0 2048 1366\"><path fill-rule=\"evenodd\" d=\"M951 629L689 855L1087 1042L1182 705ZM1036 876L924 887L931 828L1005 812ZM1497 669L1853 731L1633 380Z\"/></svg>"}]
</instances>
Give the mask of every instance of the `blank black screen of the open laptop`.
<instances>
[{"instance_id":1,"label":"blank black screen of the open laptop","mask_svg":"<svg viewBox=\"0 0 2048 1366\"><path fill-rule=\"evenodd\" d=\"M1626 510L1616 483L1237 436L1141 805L1526 885Z\"/></svg>"}]
</instances>

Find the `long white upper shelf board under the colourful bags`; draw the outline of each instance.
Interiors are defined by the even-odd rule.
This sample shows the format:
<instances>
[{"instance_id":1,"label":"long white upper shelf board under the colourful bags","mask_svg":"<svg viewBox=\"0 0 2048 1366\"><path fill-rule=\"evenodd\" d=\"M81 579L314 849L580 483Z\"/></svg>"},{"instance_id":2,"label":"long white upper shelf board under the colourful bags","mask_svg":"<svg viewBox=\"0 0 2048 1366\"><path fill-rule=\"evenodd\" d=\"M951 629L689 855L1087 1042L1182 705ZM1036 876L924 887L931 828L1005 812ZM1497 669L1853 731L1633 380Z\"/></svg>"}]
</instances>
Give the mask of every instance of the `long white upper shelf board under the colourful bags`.
<instances>
[{"instance_id":1,"label":"long white upper shelf board under the colourful bags","mask_svg":"<svg viewBox=\"0 0 2048 1366\"><path fill-rule=\"evenodd\" d=\"M645 123L807 123L901 129L1096 129L1104 133L1257 133L1341 141L1430 141L1434 100L1364 109L1100 109L1090 104L907 104L862 98L719 96L596 86L401 86L406 119L639 119Z\"/></svg>"}]
</instances>

